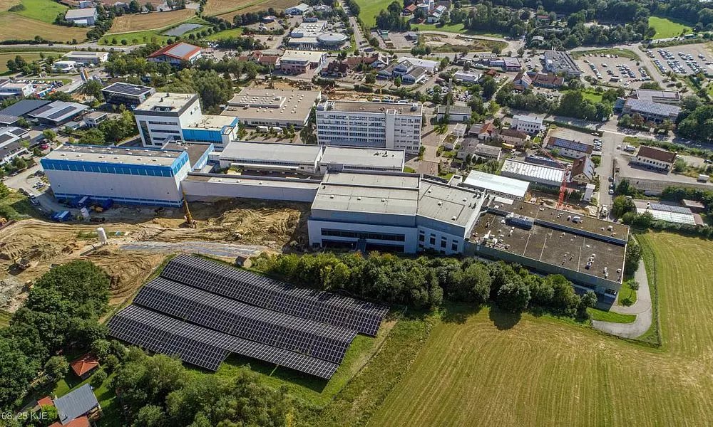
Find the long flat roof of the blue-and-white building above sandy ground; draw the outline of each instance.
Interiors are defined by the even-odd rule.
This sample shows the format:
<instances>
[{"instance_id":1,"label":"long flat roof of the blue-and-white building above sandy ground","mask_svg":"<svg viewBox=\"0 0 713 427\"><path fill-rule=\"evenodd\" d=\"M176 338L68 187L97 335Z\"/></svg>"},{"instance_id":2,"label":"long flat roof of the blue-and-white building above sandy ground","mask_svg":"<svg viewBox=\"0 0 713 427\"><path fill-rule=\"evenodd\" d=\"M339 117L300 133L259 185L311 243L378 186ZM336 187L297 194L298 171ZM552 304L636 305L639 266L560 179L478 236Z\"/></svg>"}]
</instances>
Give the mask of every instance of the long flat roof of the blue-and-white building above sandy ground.
<instances>
[{"instance_id":1,"label":"long flat roof of the blue-and-white building above sandy ground","mask_svg":"<svg viewBox=\"0 0 713 427\"><path fill-rule=\"evenodd\" d=\"M53 149L43 159L170 166L181 154L183 151L170 149L63 144Z\"/></svg>"}]
</instances>

